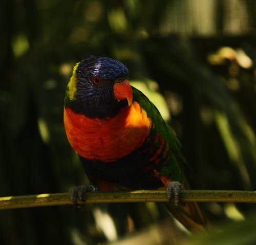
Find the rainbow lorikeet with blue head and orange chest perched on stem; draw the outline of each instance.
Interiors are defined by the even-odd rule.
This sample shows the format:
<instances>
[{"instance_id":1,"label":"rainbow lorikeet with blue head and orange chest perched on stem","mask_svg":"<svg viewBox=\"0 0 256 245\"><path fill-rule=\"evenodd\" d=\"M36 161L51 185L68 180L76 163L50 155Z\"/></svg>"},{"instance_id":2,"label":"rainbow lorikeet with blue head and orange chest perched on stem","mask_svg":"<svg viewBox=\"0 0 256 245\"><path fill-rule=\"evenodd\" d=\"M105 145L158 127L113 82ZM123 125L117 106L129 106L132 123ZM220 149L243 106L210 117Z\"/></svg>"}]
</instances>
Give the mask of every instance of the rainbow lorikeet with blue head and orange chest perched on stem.
<instances>
[{"instance_id":1,"label":"rainbow lorikeet with blue head and orange chest perched on stem","mask_svg":"<svg viewBox=\"0 0 256 245\"><path fill-rule=\"evenodd\" d=\"M196 203L179 205L188 188L180 142L155 105L127 80L126 66L107 57L91 56L74 66L65 97L67 138L93 186L72 190L72 200L84 193L111 189L167 188L170 212L189 230L207 223Z\"/></svg>"}]
</instances>

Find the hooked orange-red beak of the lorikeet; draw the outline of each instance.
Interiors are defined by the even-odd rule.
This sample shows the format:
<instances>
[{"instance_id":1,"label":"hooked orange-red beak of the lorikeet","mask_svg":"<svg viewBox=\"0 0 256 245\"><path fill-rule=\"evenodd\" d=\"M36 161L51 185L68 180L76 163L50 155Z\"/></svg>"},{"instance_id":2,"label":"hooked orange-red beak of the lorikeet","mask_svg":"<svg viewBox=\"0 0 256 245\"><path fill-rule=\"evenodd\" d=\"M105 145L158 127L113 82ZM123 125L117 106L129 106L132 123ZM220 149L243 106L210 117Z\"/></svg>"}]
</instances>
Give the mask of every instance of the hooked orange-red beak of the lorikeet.
<instances>
[{"instance_id":1,"label":"hooked orange-red beak of the lorikeet","mask_svg":"<svg viewBox=\"0 0 256 245\"><path fill-rule=\"evenodd\" d=\"M127 100L130 106L133 102L133 90L127 79L114 84L114 97L116 100Z\"/></svg>"}]
</instances>

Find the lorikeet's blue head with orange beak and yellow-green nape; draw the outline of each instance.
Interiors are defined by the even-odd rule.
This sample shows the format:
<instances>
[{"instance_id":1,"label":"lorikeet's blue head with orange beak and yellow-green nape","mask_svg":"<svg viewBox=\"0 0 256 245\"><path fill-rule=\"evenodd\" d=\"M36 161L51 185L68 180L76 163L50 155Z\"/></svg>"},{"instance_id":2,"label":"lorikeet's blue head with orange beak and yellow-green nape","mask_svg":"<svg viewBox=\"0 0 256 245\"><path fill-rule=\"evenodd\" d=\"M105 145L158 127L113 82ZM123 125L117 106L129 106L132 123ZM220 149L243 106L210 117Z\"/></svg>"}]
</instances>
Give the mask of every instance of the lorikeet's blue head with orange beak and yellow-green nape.
<instances>
[{"instance_id":1,"label":"lorikeet's blue head with orange beak and yellow-green nape","mask_svg":"<svg viewBox=\"0 0 256 245\"><path fill-rule=\"evenodd\" d=\"M126 66L108 57L91 56L74 66L65 106L91 118L115 116L133 100Z\"/></svg>"}]
</instances>

